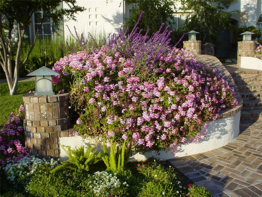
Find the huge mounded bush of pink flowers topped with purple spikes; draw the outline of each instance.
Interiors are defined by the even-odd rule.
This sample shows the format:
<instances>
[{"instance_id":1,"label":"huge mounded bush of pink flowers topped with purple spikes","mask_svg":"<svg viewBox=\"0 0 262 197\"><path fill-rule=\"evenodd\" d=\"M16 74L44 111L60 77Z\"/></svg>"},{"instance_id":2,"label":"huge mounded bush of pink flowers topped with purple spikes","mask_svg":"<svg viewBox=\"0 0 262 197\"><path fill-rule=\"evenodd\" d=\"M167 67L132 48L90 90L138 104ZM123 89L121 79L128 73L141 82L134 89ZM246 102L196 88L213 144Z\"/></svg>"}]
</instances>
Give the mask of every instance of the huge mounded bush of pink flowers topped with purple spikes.
<instances>
[{"instance_id":1,"label":"huge mounded bush of pink flowers topped with purple spikes","mask_svg":"<svg viewBox=\"0 0 262 197\"><path fill-rule=\"evenodd\" d=\"M148 39L135 26L130 35L120 30L102 47L55 63L62 75L54 83L72 79L70 103L80 135L128 139L140 150L173 148L198 142L209 120L237 105L219 71L169 46L169 34L161 26Z\"/></svg>"}]
</instances>

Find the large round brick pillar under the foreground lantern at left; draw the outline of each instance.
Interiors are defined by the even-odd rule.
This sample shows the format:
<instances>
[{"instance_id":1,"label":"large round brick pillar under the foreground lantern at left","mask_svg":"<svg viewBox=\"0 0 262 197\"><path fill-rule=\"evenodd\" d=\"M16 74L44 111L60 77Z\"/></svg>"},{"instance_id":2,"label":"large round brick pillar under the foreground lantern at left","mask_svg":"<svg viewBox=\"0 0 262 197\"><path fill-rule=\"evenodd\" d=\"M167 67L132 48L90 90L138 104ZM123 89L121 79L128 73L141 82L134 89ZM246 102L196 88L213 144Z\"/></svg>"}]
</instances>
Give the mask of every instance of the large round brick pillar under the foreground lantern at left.
<instances>
[{"instance_id":1,"label":"large round brick pillar under the foreground lantern at left","mask_svg":"<svg viewBox=\"0 0 262 197\"><path fill-rule=\"evenodd\" d=\"M25 142L33 155L59 157L59 134L70 126L68 99L68 93L23 95Z\"/></svg>"}]
</instances>

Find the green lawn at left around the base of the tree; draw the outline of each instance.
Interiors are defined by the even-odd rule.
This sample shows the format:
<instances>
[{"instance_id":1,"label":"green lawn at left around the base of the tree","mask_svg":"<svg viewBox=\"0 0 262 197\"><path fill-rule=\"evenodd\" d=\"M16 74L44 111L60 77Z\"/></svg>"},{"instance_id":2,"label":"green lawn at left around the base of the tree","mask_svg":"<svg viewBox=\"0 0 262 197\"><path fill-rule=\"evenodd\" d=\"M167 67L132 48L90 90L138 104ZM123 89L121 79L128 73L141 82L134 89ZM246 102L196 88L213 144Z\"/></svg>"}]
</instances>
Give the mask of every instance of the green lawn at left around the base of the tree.
<instances>
[{"instance_id":1,"label":"green lawn at left around the base of the tree","mask_svg":"<svg viewBox=\"0 0 262 197\"><path fill-rule=\"evenodd\" d=\"M0 125L7 122L9 114L19 109L23 104L22 95L27 94L29 90L35 90L34 81L21 81L17 84L17 95L9 95L7 83L0 84Z\"/></svg>"}]
</instances>

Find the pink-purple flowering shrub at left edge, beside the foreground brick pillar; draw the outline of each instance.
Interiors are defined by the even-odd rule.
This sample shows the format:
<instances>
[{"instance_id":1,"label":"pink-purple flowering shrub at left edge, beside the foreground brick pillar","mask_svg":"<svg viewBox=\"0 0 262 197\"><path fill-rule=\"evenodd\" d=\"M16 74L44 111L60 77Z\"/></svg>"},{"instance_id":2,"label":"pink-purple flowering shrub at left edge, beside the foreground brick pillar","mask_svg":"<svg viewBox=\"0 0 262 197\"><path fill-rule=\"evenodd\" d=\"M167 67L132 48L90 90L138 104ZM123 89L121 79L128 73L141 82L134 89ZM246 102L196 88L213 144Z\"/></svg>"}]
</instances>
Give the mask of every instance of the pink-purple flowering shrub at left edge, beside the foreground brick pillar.
<instances>
[{"instance_id":1,"label":"pink-purple flowering shrub at left edge, beside the foreground brick pillar","mask_svg":"<svg viewBox=\"0 0 262 197\"><path fill-rule=\"evenodd\" d=\"M23 114L24 107L23 105L20 105L18 112L11 112L9 120L0 130L1 166L4 166L10 162L16 162L24 156L29 155L28 149L23 146Z\"/></svg>"}]
</instances>

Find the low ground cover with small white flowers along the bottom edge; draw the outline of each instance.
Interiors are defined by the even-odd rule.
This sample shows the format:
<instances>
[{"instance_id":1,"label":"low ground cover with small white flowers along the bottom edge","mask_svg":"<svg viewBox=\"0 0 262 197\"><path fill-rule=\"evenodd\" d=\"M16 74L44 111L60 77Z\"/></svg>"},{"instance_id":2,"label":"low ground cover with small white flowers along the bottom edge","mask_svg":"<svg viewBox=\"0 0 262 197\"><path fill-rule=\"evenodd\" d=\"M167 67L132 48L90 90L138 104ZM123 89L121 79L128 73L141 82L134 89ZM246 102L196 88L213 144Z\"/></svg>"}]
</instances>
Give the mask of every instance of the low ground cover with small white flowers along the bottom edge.
<instances>
[{"instance_id":1,"label":"low ground cover with small white flowers along the bottom edge","mask_svg":"<svg viewBox=\"0 0 262 197\"><path fill-rule=\"evenodd\" d=\"M180 177L172 166L149 159L128 163L122 171L110 171L101 161L93 172L81 169L51 171L57 162L24 157L2 171L4 196L211 196ZM4 189L4 190L3 190Z\"/></svg>"}]
</instances>

